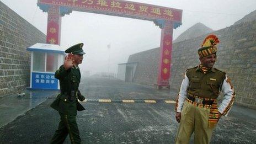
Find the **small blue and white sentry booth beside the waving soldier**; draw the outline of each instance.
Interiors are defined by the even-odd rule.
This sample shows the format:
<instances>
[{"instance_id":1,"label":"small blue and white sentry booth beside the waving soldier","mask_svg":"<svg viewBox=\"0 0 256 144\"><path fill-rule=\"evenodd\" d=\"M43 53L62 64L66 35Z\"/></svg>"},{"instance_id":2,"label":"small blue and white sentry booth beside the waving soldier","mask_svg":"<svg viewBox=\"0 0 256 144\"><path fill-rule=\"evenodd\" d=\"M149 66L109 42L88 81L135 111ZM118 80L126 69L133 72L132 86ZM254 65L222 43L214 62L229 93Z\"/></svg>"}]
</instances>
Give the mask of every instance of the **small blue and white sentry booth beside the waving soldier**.
<instances>
[{"instance_id":1,"label":"small blue and white sentry booth beside the waving soldier","mask_svg":"<svg viewBox=\"0 0 256 144\"><path fill-rule=\"evenodd\" d=\"M65 58L61 47L37 43L26 50L31 51L30 89L60 89L54 74Z\"/></svg>"}]
</instances>

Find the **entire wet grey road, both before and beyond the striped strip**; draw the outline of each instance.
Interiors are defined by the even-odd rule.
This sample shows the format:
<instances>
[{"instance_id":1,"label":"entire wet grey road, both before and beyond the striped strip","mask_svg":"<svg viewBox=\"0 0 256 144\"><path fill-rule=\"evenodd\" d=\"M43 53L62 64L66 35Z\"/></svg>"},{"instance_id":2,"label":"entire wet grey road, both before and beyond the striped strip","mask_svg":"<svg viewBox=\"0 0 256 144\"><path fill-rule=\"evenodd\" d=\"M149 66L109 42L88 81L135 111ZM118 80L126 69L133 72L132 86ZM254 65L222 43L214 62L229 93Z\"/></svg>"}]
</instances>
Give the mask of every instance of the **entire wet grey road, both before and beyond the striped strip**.
<instances>
[{"instance_id":1,"label":"entire wet grey road, both before and beyond the striped strip","mask_svg":"<svg viewBox=\"0 0 256 144\"><path fill-rule=\"evenodd\" d=\"M81 90L88 99L172 99L168 92L106 79L86 79ZM0 129L0 143L49 143L58 125L58 113L47 99ZM174 143L178 124L174 104L82 103L77 122L82 143ZM222 118L211 143L256 143L255 110L234 106ZM65 143L70 143L67 138Z\"/></svg>"}]
</instances>

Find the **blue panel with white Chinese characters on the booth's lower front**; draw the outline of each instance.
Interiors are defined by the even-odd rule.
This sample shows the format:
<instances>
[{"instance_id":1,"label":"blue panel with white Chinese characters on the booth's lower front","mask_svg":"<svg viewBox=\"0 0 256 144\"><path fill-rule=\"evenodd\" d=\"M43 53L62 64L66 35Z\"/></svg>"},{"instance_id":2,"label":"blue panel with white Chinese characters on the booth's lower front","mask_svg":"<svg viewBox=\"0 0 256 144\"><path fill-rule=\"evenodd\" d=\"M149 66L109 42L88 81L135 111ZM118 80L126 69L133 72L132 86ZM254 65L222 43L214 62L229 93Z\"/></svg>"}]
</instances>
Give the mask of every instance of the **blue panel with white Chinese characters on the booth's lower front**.
<instances>
[{"instance_id":1,"label":"blue panel with white Chinese characters on the booth's lower front","mask_svg":"<svg viewBox=\"0 0 256 144\"><path fill-rule=\"evenodd\" d=\"M32 72L31 88L58 89L58 79L54 77L54 73Z\"/></svg>"}]
</instances>

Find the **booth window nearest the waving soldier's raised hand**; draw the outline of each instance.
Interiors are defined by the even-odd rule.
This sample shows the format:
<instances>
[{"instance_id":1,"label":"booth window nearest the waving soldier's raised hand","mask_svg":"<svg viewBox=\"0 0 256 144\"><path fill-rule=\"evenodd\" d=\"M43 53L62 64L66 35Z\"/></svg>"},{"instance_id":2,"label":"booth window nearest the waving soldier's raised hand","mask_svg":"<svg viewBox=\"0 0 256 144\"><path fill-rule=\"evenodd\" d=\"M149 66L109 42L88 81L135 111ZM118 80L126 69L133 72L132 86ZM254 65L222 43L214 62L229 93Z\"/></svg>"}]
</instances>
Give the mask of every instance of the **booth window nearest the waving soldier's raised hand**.
<instances>
[{"instance_id":1,"label":"booth window nearest the waving soldier's raised hand","mask_svg":"<svg viewBox=\"0 0 256 144\"><path fill-rule=\"evenodd\" d=\"M46 72L55 72L58 69L58 55L47 53Z\"/></svg>"}]
</instances>

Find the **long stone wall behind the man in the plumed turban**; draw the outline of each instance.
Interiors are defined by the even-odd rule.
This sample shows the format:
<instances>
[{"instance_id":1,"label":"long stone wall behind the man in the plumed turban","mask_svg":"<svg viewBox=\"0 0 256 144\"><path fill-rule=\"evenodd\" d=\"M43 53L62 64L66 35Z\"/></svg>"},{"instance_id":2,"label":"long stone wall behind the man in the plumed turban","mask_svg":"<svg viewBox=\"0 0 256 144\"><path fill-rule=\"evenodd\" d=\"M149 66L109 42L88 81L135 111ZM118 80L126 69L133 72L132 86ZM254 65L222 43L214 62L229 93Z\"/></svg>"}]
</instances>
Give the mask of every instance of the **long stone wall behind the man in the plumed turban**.
<instances>
[{"instance_id":1,"label":"long stone wall behind the man in the plumed turban","mask_svg":"<svg viewBox=\"0 0 256 144\"><path fill-rule=\"evenodd\" d=\"M230 76L236 103L256 109L256 21L233 25L214 34L221 41L215 67ZM205 36L173 44L171 90L178 93L185 70L199 64L197 49ZM138 62L134 82L150 85L157 82L158 57L159 48L129 57L128 62Z\"/></svg>"}]
</instances>

